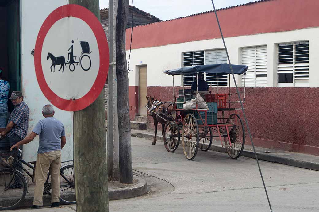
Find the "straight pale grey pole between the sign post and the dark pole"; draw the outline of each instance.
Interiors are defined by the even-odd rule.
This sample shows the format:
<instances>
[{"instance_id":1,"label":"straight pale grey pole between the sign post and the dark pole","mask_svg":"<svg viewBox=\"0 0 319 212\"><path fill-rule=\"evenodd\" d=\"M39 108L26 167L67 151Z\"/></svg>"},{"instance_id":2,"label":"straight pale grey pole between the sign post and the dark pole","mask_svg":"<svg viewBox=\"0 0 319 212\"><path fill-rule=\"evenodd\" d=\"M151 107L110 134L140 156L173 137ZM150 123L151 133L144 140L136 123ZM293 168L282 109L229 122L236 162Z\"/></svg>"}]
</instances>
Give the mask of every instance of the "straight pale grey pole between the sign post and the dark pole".
<instances>
[{"instance_id":1,"label":"straight pale grey pole between the sign post and the dark pole","mask_svg":"<svg viewBox=\"0 0 319 212\"><path fill-rule=\"evenodd\" d=\"M116 79L116 13L118 0L108 2L108 48L110 66L108 71L108 176L120 178L119 167L119 128L117 117L117 79Z\"/></svg>"}]
</instances>

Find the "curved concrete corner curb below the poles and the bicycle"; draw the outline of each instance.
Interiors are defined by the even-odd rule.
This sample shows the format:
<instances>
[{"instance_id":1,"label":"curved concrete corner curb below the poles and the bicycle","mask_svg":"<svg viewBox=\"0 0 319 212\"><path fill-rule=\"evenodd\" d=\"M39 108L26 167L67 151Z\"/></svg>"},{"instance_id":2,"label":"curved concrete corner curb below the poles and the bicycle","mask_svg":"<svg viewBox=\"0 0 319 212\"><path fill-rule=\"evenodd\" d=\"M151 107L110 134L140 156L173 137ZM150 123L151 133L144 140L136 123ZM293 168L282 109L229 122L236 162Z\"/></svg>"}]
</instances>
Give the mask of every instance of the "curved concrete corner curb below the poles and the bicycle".
<instances>
[{"instance_id":1,"label":"curved concrete corner curb below the poles and the bicycle","mask_svg":"<svg viewBox=\"0 0 319 212\"><path fill-rule=\"evenodd\" d=\"M127 187L123 188L113 188L108 190L108 200L121 200L121 199L127 199L132 197L141 196L148 192L148 187L146 184L145 179L137 177L133 175L134 180L138 180L138 183L133 186L129 186L127 184ZM33 202L33 196L29 195L26 196L24 201L19 205L17 209L19 208L27 208L32 205ZM43 206L50 206L51 205L51 196L44 195L43 196Z\"/></svg>"}]
</instances>

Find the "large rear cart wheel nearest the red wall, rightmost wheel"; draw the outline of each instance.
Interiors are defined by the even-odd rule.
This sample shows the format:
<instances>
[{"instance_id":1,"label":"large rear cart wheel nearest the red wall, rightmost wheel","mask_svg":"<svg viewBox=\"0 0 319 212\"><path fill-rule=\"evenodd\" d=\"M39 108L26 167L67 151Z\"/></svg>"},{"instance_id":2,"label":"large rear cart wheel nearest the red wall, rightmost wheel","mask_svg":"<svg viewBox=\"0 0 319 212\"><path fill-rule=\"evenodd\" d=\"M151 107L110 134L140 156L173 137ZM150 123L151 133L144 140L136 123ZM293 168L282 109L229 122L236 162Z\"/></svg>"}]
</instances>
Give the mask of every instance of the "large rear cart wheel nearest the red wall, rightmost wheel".
<instances>
[{"instance_id":1,"label":"large rear cart wheel nearest the red wall, rightmost wheel","mask_svg":"<svg viewBox=\"0 0 319 212\"><path fill-rule=\"evenodd\" d=\"M230 143L232 146L226 147L226 151L231 158L237 159L245 146L245 127L241 118L236 114L230 115L226 123L233 124L233 127L228 127ZM228 142L228 137L226 137L225 143Z\"/></svg>"}]
</instances>

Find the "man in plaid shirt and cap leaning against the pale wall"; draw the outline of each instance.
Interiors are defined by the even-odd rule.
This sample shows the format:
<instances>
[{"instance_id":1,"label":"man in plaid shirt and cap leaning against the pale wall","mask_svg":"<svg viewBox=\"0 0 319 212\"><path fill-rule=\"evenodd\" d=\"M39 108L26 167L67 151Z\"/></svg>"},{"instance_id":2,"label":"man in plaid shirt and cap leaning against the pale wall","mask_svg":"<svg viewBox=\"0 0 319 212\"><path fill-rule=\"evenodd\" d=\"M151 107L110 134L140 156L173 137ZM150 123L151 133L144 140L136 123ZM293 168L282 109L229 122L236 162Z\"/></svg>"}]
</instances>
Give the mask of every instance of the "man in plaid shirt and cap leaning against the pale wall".
<instances>
[{"instance_id":1,"label":"man in plaid shirt and cap leaning against the pale wall","mask_svg":"<svg viewBox=\"0 0 319 212\"><path fill-rule=\"evenodd\" d=\"M14 105L7 127L0 133L0 150L10 151L10 148L26 137L29 126L29 107L23 102L21 91L13 91L9 98Z\"/></svg>"}]
</instances>

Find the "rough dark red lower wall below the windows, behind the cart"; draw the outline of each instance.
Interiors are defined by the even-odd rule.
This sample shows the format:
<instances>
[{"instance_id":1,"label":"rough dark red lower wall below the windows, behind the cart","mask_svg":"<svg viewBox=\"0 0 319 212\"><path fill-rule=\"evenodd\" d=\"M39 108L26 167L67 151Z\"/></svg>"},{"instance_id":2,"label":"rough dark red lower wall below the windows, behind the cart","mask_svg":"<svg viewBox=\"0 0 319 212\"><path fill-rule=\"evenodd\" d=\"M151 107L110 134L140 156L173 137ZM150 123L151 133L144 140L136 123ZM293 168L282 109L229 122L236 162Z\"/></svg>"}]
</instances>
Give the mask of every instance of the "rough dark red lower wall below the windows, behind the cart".
<instances>
[{"instance_id":1,"label":"rough dark red lower wall below the windows, behind the cart","mask_svg":"<svg viewBox=\"0 0 319 212\"><path fill-rule=\"evenodd\" d=\"M219 88L219 93L228 94L228 87ZM231 88L231 93L236 93L235 88ZM162 101L172 100L173 87L147 87L147 94ZM235 100L235 95L232 98ZM245 111L255 144L319 155L318 105L319 88L246 88Z\"/></svg>"}]
</instances>

